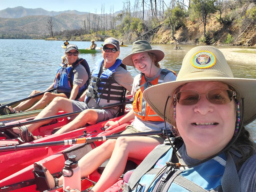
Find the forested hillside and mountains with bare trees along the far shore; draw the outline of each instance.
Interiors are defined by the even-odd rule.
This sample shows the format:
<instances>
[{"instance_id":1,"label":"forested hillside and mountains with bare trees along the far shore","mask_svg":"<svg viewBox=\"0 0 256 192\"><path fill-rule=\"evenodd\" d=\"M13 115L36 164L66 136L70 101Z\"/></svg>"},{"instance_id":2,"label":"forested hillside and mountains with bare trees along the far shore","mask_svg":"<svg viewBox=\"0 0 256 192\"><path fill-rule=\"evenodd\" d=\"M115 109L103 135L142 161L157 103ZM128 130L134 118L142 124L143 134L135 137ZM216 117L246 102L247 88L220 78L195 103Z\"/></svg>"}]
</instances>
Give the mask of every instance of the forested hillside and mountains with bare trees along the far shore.
<instances>
[{"instance_id":1,"label":"forested hillside and mountains with bare trees along the far shore","mask_svg":"<svg viewBox=\"0 0 256 192\"><path fill-rule=\"evenodd\" d=\"M55 38L89 41L108 36L133 42L203 43L255 46L256 0L126 0L123 10L106 14L1 18L0 38Z\"/></svg>"}]
</instances>

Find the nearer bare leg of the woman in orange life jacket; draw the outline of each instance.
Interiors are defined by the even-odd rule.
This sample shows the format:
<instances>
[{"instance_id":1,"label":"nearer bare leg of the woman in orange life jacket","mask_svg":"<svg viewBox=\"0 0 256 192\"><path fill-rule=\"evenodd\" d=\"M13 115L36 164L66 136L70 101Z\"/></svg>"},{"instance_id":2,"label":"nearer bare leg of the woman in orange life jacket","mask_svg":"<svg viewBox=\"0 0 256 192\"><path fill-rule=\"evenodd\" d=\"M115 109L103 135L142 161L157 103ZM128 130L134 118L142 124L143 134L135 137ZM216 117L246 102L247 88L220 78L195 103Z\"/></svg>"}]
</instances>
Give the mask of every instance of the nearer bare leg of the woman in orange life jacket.
<instances>
[{"instance_id":1,"label":"nearer bare leg of the woman in orange life jacket","mask_svg":"<svg viewBox=\"0 0 256 192\"><path fill-rule=\"evenodd\" d=\"M91 191L102 192L108 189L123 173L128 157L142 160L158 144L152 137L119 137L101 178Z\"/></svg>"}]
</instances>

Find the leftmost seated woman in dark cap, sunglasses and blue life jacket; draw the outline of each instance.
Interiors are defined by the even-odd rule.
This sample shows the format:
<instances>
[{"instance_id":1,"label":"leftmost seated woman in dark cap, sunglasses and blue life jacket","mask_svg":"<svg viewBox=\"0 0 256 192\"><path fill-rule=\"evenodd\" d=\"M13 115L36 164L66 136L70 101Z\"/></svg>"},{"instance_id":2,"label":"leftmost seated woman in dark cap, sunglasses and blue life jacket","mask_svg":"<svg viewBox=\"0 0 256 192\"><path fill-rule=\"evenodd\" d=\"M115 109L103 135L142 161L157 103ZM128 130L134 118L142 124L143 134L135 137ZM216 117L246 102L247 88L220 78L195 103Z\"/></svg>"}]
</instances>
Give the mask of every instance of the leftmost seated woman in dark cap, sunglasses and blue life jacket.
<instances>
[{"instance_id":1,"label":"leftmost seated woman in dark cap, sunglasses and blue life jacket","mask_svg":"<svg viewBox=\"0 0 256 192\"><path fill-rule=\"evenodd\" d=\"M67 45L65 56L62 57L62 63L56 73L53 84L46 90L56 88L52 93L46 92L27 101L21 102L16 107L6 107L7 113L19 113L23 111L33 111L43 109L55 97L64 97L69 99L78 99L87 89L90 76L90 67L85 59L78 58L78 47L74 44ZM68 80L70 77L70 80ZM42 91L34 90L31 95L41 93ZM37 102L38 101L38 102Z\"/></svg>"}]
</instances>

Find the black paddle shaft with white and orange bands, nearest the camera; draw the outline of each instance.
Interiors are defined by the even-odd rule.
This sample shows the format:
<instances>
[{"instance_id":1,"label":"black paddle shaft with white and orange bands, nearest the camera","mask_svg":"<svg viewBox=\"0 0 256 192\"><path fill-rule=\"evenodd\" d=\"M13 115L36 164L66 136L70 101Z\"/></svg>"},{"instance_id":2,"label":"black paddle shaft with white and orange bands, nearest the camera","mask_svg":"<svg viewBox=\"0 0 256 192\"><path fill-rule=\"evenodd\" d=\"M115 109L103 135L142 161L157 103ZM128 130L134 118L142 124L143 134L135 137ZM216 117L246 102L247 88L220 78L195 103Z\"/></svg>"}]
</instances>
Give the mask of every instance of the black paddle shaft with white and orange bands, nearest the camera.
<instances>
[{"instance_id":1,"label":"black paddle shaft with white and orange bands, nearest the camera","mask_svg":"<svg viewBox=\"0 0 256 192\"><path fill-rule=\"evenodd\" d=\"M171 131L167 132L170 134ZM87 138L78 138L78 139L65 139L63 141L51 141L43 143L26 143L25 145L14 145L0 147L0 151L18 151L25 149L35 149L41 147L57 146L57 145L72 145L78 143L94 142L94 141L106 141L107 139L117 139L118 137L131 137L131 136L148 136L148 135L159 135L166 134L165 130L158 131L148 131L148 132L139 132L139 133L127 133L127 134L118 134L118 135L106 135L101 137L87 137Z\"/></svg>"}]
</instances>

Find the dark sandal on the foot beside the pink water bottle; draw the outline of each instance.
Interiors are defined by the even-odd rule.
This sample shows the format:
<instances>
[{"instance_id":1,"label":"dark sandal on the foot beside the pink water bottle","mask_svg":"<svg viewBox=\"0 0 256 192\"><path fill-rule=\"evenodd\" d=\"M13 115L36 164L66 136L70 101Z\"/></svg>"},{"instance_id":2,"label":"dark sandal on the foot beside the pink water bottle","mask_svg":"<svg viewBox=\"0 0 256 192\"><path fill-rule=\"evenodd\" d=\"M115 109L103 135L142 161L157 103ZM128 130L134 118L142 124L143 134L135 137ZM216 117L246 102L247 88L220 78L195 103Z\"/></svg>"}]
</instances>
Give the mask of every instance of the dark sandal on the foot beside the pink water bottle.
<instances>
[{"instance_id":1,"label":"dark sandal on the foot beside the pink water bottle","mask_svg":"<svg viewBox=\"0 0 256 192\"><path fill-rule=\"evenodd\" d=\"M47 181L47 175L46 175L46 167L44 167L41 163L35 162L34 163L34 177L35 177L35 183L37 185L38 191L45 191L47 189L50 189L49 183ZM59 185L59 179L54 178L55 187Z\"/></svg>"}]
</instances>

